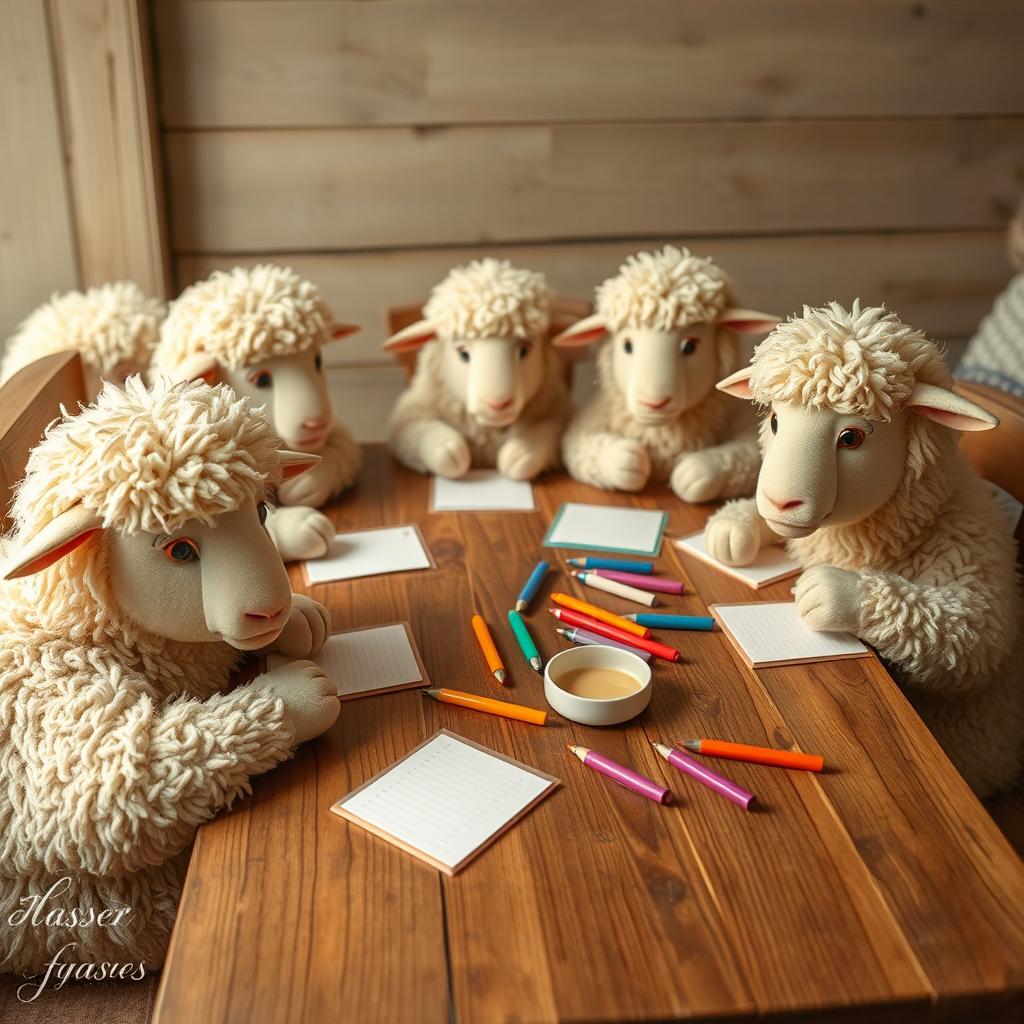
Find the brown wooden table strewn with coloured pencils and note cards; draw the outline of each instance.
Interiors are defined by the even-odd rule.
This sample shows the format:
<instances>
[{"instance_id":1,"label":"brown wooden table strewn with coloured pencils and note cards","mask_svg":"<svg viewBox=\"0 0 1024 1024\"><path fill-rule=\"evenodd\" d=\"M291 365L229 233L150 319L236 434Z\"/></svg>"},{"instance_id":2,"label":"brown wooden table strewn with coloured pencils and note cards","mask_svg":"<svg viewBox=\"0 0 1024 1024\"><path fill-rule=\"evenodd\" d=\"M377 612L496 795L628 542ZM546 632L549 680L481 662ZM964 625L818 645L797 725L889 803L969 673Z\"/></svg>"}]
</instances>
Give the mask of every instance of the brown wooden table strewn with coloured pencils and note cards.
<instances>
[{"instance_id":1,"label":"brown wooden table strewn with coloured pencils and note cards","mask_svg":"<svg viewBox=\"0 0 1024 1024\"><path fill-rule=\"evenodd\" d=\"M558 506L660 507L673 534L709 510L564 476L536 494L536 514L431 514L429 481L371 450L332 518L343 529L418 522L437 568L310 592L337 628L408 618L434 685L495 693L469 629L477 609L505 652L506 695L543 707L504 623L542 552L565 554L540 546ZM682 611L752 599L668 544L659 564L686 580L672 602ZM790 586L760 593L785 598ZM550 589L529 612L546 656L563 646L544 610ZM650 708L617 728L542 729L417 690L346 702L328 735L200 830L155 1019L1019 1021L1021 862L882 666L755 673L719 632L664 636L683 664L659 663ZM442 727L564 783L454 879L328 810ZM748 814L649 744L689 735L796 744L831 770L720 763L758 795L762 810ZM664 778L676 805L584 769L566 742Z\"/></svg>"}]
</instances>

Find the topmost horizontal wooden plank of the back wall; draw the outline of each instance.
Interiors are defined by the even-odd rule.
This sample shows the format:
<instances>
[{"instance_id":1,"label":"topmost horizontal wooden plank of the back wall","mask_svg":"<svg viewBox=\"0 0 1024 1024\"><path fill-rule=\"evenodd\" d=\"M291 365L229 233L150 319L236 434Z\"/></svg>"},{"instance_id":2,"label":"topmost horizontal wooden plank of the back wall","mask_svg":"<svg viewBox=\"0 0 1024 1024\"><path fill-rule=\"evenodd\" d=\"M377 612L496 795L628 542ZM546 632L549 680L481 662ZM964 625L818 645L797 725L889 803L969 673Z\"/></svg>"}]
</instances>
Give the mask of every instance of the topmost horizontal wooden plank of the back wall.
<instances>
[{"instance_id":1,"label":"topmost horizontal wooden plank of the back wall","mask_svg":"<svg viewBox=\"0 0 1024 1024\"><path fill-rule=\"evenodd\" d=\"M1019 4L158 2L172 128L1024 110ZM860 73L852 73L859 69Z\"/></svg>"}]
</instances>

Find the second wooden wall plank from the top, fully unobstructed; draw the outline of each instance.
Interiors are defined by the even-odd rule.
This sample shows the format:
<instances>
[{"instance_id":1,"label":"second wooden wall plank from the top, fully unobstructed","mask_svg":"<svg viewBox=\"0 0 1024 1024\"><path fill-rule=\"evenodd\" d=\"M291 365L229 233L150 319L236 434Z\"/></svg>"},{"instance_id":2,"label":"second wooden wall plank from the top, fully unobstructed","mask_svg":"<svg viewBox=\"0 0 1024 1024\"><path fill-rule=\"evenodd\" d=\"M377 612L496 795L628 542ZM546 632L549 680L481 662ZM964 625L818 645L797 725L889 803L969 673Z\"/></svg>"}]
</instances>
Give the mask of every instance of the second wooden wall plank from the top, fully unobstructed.
<instances>
[{"instance_id":1,"label":"second wooden wall plank from the top, fully unobstructed","mask_svg":"<svg viewBox=\"0 0 1024 1024\"><path fill-rule=\"evenodd\" d=\"M1024 120L166 135L179 252L1001 226ZM397 299L400 301L400 299Z\"/></svg>"}]
</instances>

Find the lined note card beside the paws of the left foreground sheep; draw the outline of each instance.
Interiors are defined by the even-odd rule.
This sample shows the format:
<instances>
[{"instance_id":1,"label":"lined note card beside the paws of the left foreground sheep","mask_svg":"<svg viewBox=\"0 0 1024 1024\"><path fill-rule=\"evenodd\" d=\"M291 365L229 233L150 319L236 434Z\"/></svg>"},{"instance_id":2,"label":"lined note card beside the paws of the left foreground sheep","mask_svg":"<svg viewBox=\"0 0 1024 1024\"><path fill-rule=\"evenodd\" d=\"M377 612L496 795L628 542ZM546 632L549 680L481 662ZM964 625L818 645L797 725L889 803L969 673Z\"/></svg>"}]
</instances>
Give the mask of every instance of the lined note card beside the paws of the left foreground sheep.
<instances>
[{"instance_id":1,"label":"lined note card beside the paws of the left foreground sheep","mask_svg":"<svg viewBox=\"0 0 1024 1024\"><path fill-rule=\"evenodd\" d=\"M271 654L267 664L275 669L289 660ZM408 623L335 633L312 660L331 678L342 700L430 685Z\"/></svg>"}]
</instances>

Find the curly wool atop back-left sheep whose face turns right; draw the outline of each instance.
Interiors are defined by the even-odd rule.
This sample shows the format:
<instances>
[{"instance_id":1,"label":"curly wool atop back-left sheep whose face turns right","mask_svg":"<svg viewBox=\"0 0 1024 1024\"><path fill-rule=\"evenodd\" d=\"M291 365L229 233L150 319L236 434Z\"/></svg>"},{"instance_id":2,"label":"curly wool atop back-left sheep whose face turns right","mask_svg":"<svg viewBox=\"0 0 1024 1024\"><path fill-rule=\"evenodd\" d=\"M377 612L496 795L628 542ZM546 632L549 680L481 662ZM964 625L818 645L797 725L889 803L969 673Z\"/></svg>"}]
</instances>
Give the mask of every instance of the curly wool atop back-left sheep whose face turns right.
<instances>
[{"instance_id":1,"label":"curly wool atop back-left sheep whose face turns right","mask_svg":"<svg viewBox=\"0 0 1024 1024\"><path fill-rule=\"evenodd\" d=\"M333 319L316 286L289 267L217 270L171 303L154 367L169 372L205 352L241 370L324 344Z\"/></svg>"}]
</instances>

